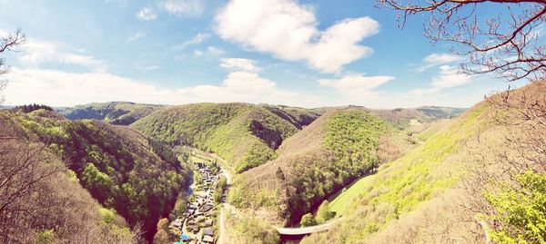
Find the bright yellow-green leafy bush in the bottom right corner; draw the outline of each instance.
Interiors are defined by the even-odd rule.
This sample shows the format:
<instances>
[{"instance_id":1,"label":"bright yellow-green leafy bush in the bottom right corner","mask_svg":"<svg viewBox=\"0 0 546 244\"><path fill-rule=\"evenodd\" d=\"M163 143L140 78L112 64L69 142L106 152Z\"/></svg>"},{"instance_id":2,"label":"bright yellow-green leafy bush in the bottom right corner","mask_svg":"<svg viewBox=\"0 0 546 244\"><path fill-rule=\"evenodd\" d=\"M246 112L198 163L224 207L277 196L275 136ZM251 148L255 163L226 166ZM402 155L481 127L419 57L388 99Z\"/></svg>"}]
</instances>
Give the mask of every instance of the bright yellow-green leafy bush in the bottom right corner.
<instances>
[{"instance_id":1,"label":"bright yellow-green leafy bush in the bottom right corner","mask_svg":"<svg viewBox=\"0 0 546 244\"><path fill-rule=\"evenodd\" d=\"M494 223L490 237L499 243L546 243L546 174L527 171L516 181L486 194L496 210L485 216Z\"/></svg>"}]
</instances>

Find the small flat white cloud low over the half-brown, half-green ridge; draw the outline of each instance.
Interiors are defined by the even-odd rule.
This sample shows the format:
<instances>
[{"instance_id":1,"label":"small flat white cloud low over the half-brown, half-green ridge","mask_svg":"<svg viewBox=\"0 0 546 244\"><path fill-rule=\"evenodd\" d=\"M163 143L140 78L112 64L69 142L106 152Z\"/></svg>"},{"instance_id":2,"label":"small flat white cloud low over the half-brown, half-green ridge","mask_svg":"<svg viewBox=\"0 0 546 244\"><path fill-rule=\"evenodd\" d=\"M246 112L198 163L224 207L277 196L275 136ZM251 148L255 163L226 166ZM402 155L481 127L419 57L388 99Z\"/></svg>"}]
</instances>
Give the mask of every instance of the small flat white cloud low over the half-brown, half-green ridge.
<instances>
[{"instance_id":1,"label":"small flat white cloud low over the half-brown, half-green ridge","mask_svg":"<svg viewBox=\"0 0 546 244\"><path fill-rule=\"evenodd\" d=\"M369 95L373 93L373 89L377 88L383 83L394 80L392 76L366 76L363 74L349 74L341 79L335 80L319 80L321 86L329 86L340 93L350 96L351 98L358 98L363 95Z\"/></svg>"}]
</instances>

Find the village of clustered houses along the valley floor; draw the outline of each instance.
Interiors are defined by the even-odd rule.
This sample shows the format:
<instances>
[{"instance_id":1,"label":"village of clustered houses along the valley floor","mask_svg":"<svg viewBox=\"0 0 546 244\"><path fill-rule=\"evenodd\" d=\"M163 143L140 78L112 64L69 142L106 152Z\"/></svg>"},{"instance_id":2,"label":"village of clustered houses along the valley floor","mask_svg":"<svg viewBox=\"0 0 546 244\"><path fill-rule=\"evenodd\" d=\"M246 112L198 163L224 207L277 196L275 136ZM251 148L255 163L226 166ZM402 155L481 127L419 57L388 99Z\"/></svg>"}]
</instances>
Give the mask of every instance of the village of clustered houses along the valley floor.
<instances>
[{"instance_id":1,"label":"village of clustered houses along the valley floor","mask_svg":"<svg viewBox=\"0 0 546 244\"><path fill-rule=\"evenodd\" d=\"M226 202L227 183L216 163L194 163L194 183L183 216L169 225L180 237L177 243L216 243L217 204Z\"/></svg>"}]
</instances>

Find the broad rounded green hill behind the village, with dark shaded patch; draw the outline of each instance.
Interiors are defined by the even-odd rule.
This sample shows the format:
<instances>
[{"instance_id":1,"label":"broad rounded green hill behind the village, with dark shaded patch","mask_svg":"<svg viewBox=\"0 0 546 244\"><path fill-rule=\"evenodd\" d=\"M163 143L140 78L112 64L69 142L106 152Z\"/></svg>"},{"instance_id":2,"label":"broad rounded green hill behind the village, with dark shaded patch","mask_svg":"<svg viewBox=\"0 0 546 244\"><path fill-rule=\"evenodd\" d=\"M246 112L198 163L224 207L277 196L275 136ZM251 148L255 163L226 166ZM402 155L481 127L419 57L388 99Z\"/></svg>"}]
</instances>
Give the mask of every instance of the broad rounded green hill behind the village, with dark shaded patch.
<instances>
[{"instance_id":1,"label":"broad rounded green hill behind the village, with dark shaded patch","mask_svg":"<svg viewBox=\"0 0 546 244\"><path fill-rule=\"evenodd\" d=\"M161 109L131 125L161 142L216 152L236 172L277 156L298 127L259 105L196 103Z\"/></svg>"}]
</instances>

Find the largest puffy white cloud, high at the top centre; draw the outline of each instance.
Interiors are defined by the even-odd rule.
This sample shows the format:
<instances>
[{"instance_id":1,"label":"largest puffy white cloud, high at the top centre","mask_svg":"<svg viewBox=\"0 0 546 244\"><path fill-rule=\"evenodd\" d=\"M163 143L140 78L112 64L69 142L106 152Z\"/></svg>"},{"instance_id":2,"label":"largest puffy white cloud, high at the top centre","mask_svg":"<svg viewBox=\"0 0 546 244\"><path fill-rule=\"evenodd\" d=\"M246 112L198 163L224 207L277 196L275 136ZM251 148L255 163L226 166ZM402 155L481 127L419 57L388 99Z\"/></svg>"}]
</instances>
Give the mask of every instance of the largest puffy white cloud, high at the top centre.
<instances>
[{"instance_id":1,"label":"largest puffy white cloud, high at the top centre","mask_svg":"<svg viewBox=\"0 0 546 244\"><path fill-rule=\"evenodd\" d=\"M371 48L359 42L379 32L379 23L369 17L345 19L319 30L312 8L295 0L231 0L216 23L224 39L280 59L305 60L328 73L371 54Z\"/></svg>"}]
</instances>

